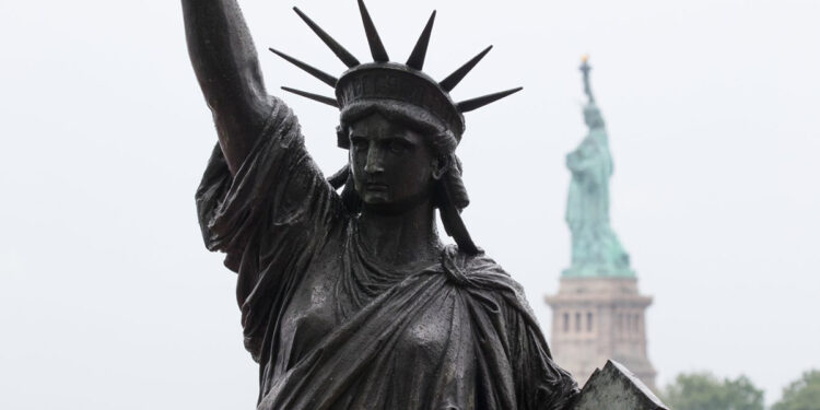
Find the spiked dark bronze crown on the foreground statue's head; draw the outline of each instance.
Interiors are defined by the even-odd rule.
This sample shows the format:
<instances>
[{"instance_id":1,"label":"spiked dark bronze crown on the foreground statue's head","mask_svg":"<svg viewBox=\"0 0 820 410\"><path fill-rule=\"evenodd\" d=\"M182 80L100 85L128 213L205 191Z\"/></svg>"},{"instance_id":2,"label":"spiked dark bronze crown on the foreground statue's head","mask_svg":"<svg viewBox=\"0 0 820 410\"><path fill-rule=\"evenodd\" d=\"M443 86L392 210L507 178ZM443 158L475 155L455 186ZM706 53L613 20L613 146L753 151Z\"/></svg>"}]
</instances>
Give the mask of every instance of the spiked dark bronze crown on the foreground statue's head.
<instances>
[{"instance_id":1,"label":"spiked dark bronze crown on the foreground statue's head","mask_svg":"<svg viewBox=\"0 0 820 410\"><path fill-rule=\"evenodd\" d=\"M276 55L293 63L300 69L321 82L332 86L336 91L336 98L306 91L295 90L283 86L282 90L293 94L307 97L319 103L324 103L344 110L345 107L356 103L366 103L379 99L396 101L412 106L420 107L431 115L437 117L455 138L460 141L465 131L464 113L478 109L501 99L507 95L520 91L520 87L502 91L494 94L484 95L478 98L471 98L464 102L455 103L449 95L458 83L472 70L476 65L492 49L492 46L479 52L476 57L467 61L458 70L453 72L441 82L433 80L422 72L424 59L430 45L430 36L433 31L435 21L435 11L430 16L419 40L415 44L410 57L406 63L390 62L384 44L382 43L376 26L373 24L367 8L363 0L359 0L359 10L362 14L364 31L367 35L367 43L374 62L361 63L344 47L328 35L313 20L311 20L298 8L293 8L302 20L313 30L314 33L336 54L336 56L348 66L340 78L330 75L315 67L302 62L284 52L271 48Z\"/></svg>"}]
</instances>

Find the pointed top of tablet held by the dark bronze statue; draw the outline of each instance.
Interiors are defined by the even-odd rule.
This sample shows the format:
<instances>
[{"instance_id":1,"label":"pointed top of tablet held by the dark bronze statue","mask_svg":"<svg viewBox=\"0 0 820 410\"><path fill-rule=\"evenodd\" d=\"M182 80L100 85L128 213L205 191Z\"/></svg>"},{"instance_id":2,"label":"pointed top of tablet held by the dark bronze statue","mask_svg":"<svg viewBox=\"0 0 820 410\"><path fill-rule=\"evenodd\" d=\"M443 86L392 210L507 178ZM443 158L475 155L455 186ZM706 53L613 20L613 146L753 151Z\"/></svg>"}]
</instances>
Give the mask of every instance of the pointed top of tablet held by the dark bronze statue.
<instances>
[{"instance_id":1,"label":"pointed top of tablet held by the dark bronze statue","mask_svg":"<svg viewBox=\"0 0 820 410\"><path fill-rule=\"evenodd\" d=\"M584 385L573 410L669 410L626 367L607 361Z\"/></svg>"}]
</instances>

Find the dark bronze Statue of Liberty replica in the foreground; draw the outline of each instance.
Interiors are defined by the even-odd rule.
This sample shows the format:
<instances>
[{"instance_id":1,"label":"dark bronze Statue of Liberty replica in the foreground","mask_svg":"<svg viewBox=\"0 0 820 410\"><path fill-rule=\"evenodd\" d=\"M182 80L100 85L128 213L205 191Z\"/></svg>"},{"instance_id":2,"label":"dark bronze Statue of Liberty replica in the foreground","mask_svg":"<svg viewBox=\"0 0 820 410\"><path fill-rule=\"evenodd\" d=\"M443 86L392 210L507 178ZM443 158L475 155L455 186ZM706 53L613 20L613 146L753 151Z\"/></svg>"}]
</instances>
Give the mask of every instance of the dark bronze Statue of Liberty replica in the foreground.
<instances>
[{"instance_id":1,"label":"dark bronze Statue of Liberty replica in the foreground","mask_svg":"<svg viewBox=\"0 0 820 410\"><path fill-rule=\"evenodd\" d=\"M363 2L374 62L298 9L347 65L339 78L272 50L335 90L349 163L325 178L291 109L268 94L236 0L183 0L188 48L219 134L197 191L210 250L238 273L258 410L566 409L578 389L552 361L524 292L477 247L455 154L455 103L489 48L442 81L422 72L435 13L391 62ZM457 245L436 232L438 210Z\"/></svg>"}]
</instances>

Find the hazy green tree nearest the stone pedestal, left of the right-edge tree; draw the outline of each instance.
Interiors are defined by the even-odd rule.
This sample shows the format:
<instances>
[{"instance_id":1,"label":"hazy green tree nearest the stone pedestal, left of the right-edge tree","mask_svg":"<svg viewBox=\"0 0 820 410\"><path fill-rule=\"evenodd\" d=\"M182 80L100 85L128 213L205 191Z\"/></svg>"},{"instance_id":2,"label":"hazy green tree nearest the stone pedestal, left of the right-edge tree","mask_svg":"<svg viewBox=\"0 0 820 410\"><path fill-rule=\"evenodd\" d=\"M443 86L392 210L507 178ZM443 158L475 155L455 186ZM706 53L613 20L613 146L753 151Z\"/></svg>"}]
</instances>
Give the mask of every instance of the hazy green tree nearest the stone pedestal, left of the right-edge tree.
<instances>
[{"instance_id":1,"label":"hazy green tree nearest the stone pedestal, left of the right-edge tree","mask_svg":"<svg viewBox=\"0 0 820 410\"><path fill-rule=\"evenodd\" d=\"M661 391L673 410L763 410L763 390L746 377L718 379L711 373L680 374Z\"/></svg>"}]
</instances>

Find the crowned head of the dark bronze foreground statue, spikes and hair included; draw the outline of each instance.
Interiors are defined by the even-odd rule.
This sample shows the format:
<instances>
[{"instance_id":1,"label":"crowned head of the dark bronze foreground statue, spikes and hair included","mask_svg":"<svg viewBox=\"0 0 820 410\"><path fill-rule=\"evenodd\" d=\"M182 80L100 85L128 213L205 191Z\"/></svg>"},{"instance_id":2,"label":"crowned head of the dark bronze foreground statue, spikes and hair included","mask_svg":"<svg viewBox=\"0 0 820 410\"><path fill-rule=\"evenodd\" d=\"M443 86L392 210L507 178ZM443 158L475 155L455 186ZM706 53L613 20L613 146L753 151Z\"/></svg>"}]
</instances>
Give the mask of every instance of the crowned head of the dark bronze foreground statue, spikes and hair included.
<instances>
[{"instance_id":1,"label":"crowned head of the dark bronze foreground statue, spikes and hair included","mask_svg":"<svg viewBox=\"0 0 820 410\"><path fill-rule=\"evenodd\" d=\"M344 186L347 207L358 212L371 207L400 212L429 200L440 209L444 226L459 248L478 253L459 216L469 203L461 181L461 165L455 154L465 133L464 113L483 107L520 91L512 89L464 102L450 92L490 51L488 47L453 74L436 81L422 69L430 44L435 12L430 16L405 63L390 61L362 0L364 23L373 62L362 63L297 8L294 11L348 66L340 78L327 74L281 51L274 54L330 85L336 97L305 91L283 90L341 110L337 144L349 150L349 164L330 178L335 188Z\"/></svg>"}]
</instances>

